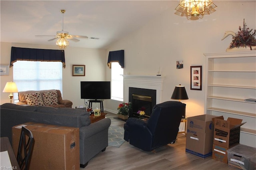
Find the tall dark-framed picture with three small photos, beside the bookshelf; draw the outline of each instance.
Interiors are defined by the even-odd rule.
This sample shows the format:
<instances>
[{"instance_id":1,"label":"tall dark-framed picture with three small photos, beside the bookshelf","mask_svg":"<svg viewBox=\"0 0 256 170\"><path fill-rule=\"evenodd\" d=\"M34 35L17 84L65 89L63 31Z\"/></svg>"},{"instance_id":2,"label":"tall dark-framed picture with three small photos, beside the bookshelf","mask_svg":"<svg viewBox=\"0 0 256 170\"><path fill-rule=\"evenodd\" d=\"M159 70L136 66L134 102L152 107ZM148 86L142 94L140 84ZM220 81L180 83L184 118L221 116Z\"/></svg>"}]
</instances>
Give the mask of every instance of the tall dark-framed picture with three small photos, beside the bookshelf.
<instances>
[{"instance_id":1,"label":"tall dark-framed picture with three small photos, beside the bookshelf","mask_svg":"<svg viewBox=\"0 0 256 170\"><path fill-rule=\"evenodd\" d=\"M190 90L202 90L202 65L190 66Z\"/></svg>"}]
</instances>

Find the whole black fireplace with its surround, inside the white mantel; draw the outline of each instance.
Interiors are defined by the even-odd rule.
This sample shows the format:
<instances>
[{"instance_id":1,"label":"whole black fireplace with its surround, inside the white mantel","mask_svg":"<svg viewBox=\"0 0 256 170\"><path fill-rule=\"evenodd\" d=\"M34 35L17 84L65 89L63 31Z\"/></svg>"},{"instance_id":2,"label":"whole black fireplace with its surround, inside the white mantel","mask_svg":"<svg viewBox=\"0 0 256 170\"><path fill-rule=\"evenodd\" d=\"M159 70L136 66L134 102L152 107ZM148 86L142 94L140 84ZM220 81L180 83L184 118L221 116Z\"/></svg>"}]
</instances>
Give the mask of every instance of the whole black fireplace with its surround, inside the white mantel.
<instances>
[{"instance_id":1,"label":"whole black fireplace with its surround, inside the white mantel","mask_svg":"<svg viewBox=\"0 0 256 170\"><path fill-rule=\"evenodd\" d=\"M145 112L145 117L150 117L156 105L156 90L129 87L129 102L132 103L129 117L139 117L137 112L141 110Z\"/></svg>"}]
</instances>

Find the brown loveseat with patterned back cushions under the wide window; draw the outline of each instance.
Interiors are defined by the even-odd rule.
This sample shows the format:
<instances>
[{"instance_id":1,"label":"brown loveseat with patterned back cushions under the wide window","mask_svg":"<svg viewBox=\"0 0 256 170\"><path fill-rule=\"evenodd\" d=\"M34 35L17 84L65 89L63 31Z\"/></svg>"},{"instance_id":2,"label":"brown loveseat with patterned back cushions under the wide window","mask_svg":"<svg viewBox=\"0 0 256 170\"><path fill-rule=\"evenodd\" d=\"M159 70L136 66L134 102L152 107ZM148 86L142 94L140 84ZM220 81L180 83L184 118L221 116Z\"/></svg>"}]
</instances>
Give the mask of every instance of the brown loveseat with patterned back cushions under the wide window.
<instances>
[{"instance_id":1,"label":"brown loveseat with patterned back cushions under the wide window","mask_svg":"<svg viewBox=\"0 0 256 170\"><path fill-rule=\"evenodd\" d=\"M50 106L50 107L69 107L73 103L63 100L60 90L40 90L40 91L20 91L18 93L19 102L17 105Z\"/></svg>"}]
</instances>

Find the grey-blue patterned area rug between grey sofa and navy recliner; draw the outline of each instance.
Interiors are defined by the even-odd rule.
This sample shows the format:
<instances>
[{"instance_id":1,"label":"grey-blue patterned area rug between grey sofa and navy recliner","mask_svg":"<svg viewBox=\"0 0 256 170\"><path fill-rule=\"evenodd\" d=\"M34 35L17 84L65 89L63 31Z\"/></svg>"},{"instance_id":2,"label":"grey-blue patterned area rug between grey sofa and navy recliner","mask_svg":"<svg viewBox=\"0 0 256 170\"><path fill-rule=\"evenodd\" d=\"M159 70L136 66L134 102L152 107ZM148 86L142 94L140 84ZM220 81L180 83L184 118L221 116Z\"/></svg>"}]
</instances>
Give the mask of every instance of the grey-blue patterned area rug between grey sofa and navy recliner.
<instances>
[{"instance_id":1,"label":"grey-blue patterned area rug between grey sofa and navy recliner","mask_svg":"<svg viewBox=\"0 0 256 170\"><path fill-rule=\"evenodd\" d=\"M124 127L110 126L108 128L108 146L120 147L124 142Z\"/></svg>"}]
</instances>

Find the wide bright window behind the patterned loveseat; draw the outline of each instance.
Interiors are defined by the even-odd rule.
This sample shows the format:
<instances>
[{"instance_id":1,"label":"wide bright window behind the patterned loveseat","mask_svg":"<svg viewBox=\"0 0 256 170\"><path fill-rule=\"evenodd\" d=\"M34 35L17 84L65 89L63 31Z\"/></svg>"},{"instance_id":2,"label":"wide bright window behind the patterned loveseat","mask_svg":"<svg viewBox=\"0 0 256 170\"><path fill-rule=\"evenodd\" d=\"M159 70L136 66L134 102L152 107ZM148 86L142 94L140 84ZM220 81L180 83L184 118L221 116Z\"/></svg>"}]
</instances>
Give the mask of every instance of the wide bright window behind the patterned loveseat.
<instances>
[{"instance_id":1,"label":"wide bright window behind the patterned loveseat","mask_svg":"<svg viewBox=\"0 0 256 170\"><path fill-rule=\"evenodd\" d=\"M13 81L18 91L58 89L62 92L62 63L16 61ZM14 93L14 100L18 100L18 94Z\"/></svg>"}]
</instances>

